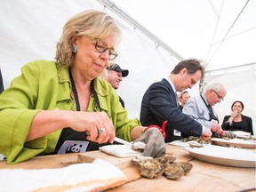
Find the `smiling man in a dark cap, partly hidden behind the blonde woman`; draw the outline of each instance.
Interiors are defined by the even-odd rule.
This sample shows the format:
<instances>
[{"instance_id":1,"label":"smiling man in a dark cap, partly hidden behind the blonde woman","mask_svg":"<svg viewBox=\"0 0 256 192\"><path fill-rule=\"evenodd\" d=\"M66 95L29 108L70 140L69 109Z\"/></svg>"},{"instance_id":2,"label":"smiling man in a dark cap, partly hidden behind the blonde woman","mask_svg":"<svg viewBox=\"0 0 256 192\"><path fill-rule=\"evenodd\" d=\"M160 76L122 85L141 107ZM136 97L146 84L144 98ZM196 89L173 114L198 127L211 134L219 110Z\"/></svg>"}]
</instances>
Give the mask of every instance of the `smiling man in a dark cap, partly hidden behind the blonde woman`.
<instances>
[{"instance_id":1,"label":"smiling man in a dark cap, partly hidden behind the blonde woman","mask_svg":"<svg viewBox=\"0 0 256 192\"><path fill-rule=\"evenodd\" d=\"M129 70L122 69L116 63L112 63L107 68L107 74L104 76L104 79L108 81L109 84L116 90L118 89L121 81L123 81L123 77L128 76ZM124 100L119 96L119 101L124 108Z\"/></svg>"}]
</instances>

